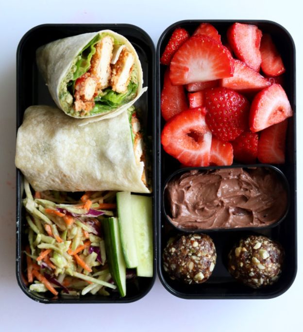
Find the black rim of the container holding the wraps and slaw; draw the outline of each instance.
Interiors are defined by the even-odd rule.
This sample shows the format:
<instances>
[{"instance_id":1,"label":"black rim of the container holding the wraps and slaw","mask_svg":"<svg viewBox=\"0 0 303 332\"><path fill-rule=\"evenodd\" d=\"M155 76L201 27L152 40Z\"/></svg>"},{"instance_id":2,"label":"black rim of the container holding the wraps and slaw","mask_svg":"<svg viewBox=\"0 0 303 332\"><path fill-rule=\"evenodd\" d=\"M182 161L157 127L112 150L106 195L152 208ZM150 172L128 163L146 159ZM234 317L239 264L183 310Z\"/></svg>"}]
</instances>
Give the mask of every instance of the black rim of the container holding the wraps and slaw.
<instances>
[{"instance_id":1,"label":"black rim of the container holding the wraps and slaw","mask_svg":"<svg viewBox=\"0 0 303 332\"><path fill-rule=\"evenodd\" d=\"M19 103L19 96L20 96L20 89L19 89L19 64L20 64L20 57L21 57L21 49L23 47L23 44L25 43L26 39L36 30L38 29L43 29L43 28L56 28L56 27L63 27L63 28L67 28L67 27L74 27L74 28L103 28L103 29L115 29L115 28L129 28L129 29L133 29L139 33L141 33L142 35L144 35L144 37L148 40L148 43L150 44L150 50L151 50L151 66L152 68L155 68L156 66L156 58L155 58L155 45L152 41L151 36L144 31L142 28L133 25L133 24L129 24L129 23L102 23L102 24L98 24L98 23L94 23L94 24L88 24L88 23L45 23L45 24L40 24L37 26L34 26L33 28L31 28L30 30L28 30L20 39L18 46L17 46L17 52L16 52L16 64L17 64L17 73L16 73L16 96L17 96L17 103L16 103L16 112L17 112L17 117L16 117L16 135L17 135L17 130L19 127L19 123L21 123L20 121L20 113L18 112L18 110L20 109L20 103ZM152 202L152 213L153 213L153 275L152 277L150 277L151 279L151 283L149 285L149 287L146 288L146 290L140 294L139 296L134 296L130 299L102 299L102 300L92 300L89 298L73 298L73 299L63 299L63 298L59 298L56 299L55 301L51 301L50 299L40 299L40 298L36 298L34 296L34 293L30 292L29 290L27 290L25 288L25 284L24 282L21 281L21 267L20 267L20 261L21 261L21 232L20 232L20 224L21 224L21 216L19 214L19 206L21 206L21 200L22 197L20 197L19 195L19 191L17 190L17 188L20 188L22 186L22 174L20 172L19 169L16 168L16 279L17 279L17 283L19 285L19 287L21 288L22 292L29 297L30 299L33 299L36 302L39 303L45 303L45 304L58 304L58 303L64 303L64 304L82 304L82 303L96 303L96 304L107 304L107 303L131 303L131 302L135 302L137 300L142 299L144 296L146 296L150 290L152 289L152 286L155 282L156 279L156 274L157 274L157 224L158 224L158 214L157 214L157 191L155 190L156 188L156 183L157 183L157 170L156 170L156 134L157 134L157 130L156 130L156 86L155 86L155 75L156 72L153 72L153 77L151 79L152 82L152 105L153 107L151 107L151 111L152 112L152 149L153 149L153 153L152 153L152 187L153 187L153 202ZM144 278L144 277L140 277L140 278Z\"/></svg>"}]
</instances>

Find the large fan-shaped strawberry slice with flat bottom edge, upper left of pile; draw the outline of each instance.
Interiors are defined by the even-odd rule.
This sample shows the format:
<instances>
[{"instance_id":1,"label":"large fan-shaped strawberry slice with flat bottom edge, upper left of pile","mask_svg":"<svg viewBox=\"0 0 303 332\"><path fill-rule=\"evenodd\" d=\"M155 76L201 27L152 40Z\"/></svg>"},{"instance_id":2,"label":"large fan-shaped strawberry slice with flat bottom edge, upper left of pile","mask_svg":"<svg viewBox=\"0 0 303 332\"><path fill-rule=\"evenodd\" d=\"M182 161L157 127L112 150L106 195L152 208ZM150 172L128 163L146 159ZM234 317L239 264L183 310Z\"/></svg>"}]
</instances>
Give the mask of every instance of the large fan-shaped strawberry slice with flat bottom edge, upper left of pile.
<instances>
[{"instance_id":1,"label":"large fan-shaped strawberry slice with flat bottom edge, upper left of pile","mask_svg":"<svg viewBox=\"0 0 303 332\"><path fill-rule=\"evenodd\" d=\"M170 80L174 85L218 80L233 73L234 59L230 52L202 34L185 41L170 63Z\"/></svg>"}]
</instances>

